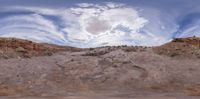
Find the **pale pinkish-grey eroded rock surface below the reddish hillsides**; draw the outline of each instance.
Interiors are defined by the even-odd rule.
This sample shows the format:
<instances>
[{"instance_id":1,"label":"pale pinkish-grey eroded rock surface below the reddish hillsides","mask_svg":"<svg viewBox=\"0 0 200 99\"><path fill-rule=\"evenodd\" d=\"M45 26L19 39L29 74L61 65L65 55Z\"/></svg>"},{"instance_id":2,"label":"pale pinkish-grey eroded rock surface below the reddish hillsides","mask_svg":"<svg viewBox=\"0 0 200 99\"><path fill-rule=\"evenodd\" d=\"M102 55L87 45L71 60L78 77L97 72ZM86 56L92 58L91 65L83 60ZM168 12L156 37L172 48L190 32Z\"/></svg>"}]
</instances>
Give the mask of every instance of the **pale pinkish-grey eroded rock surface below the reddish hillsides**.
<instances>
[{"instance_id":1,"label":"pale pinkish-grey eroded rock surface below the reddish hillsides","mask_svg":"<svg viewBox=\"0 0 200 99\"><path fill-rule=\"evenodd\" d=\"M17 48L17 52L25 49ZM196 96L200 94L199 66L198 57L174 58L146 47L62 49L52 55L1 59L0 95L64 96L145 90Z\"/></svg>"}]
</instances>

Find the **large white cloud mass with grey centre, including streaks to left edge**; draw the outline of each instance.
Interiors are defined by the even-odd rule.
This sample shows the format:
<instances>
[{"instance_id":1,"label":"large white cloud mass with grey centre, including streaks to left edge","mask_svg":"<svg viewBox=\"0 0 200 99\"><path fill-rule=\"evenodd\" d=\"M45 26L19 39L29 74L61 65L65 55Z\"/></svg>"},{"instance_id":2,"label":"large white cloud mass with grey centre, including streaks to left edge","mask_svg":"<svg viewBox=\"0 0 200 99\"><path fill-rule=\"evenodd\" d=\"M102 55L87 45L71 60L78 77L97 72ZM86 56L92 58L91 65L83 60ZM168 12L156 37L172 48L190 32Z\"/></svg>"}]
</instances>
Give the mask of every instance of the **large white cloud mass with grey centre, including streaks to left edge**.
<instances>
[{"instance_id":1,"label":"large white cloud mass with grey centre, including streaks to left edge","mask_svg":"<svg viewBox=\"0 0 200 99\"><path fill-rule=\"evenodd\" d=\"M1 36L19 37L71 45L154 45L160 39L152 32L142 33L149 20L124 4L82 3L71 8L8 7L1 12L30 11L35 14L15 15L0 19ZM53 16L60 21L48 19ZM6 26L5 26L6 25ZM60 26L62 25L62 26ZM21 28L23 27L23 28ZM149 31L149 30L146 30ZM144 32L144 31L143 31Z\"/></svg>"}]
</instances>

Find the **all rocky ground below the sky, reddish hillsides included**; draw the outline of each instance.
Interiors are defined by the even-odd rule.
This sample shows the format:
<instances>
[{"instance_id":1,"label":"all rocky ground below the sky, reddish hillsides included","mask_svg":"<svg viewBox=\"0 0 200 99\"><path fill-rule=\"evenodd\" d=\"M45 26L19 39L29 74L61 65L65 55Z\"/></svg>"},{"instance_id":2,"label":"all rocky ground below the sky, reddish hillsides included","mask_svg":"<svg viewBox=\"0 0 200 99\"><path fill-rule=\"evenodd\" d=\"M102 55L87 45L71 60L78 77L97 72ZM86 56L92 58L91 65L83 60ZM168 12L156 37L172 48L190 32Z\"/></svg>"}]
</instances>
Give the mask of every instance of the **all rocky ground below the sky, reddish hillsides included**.
<instances>
[{"instance_id":1,"label":"all rocky ground below the sky, reddish hillsides included","mask_svg":"<svg viewBox=\"0 0 200 99\"><path fill-rule=\"evenodd\" d=\"M0 39L0 99L198 99L200 38L78 49Z\"/></svg>"}]
</instances>

